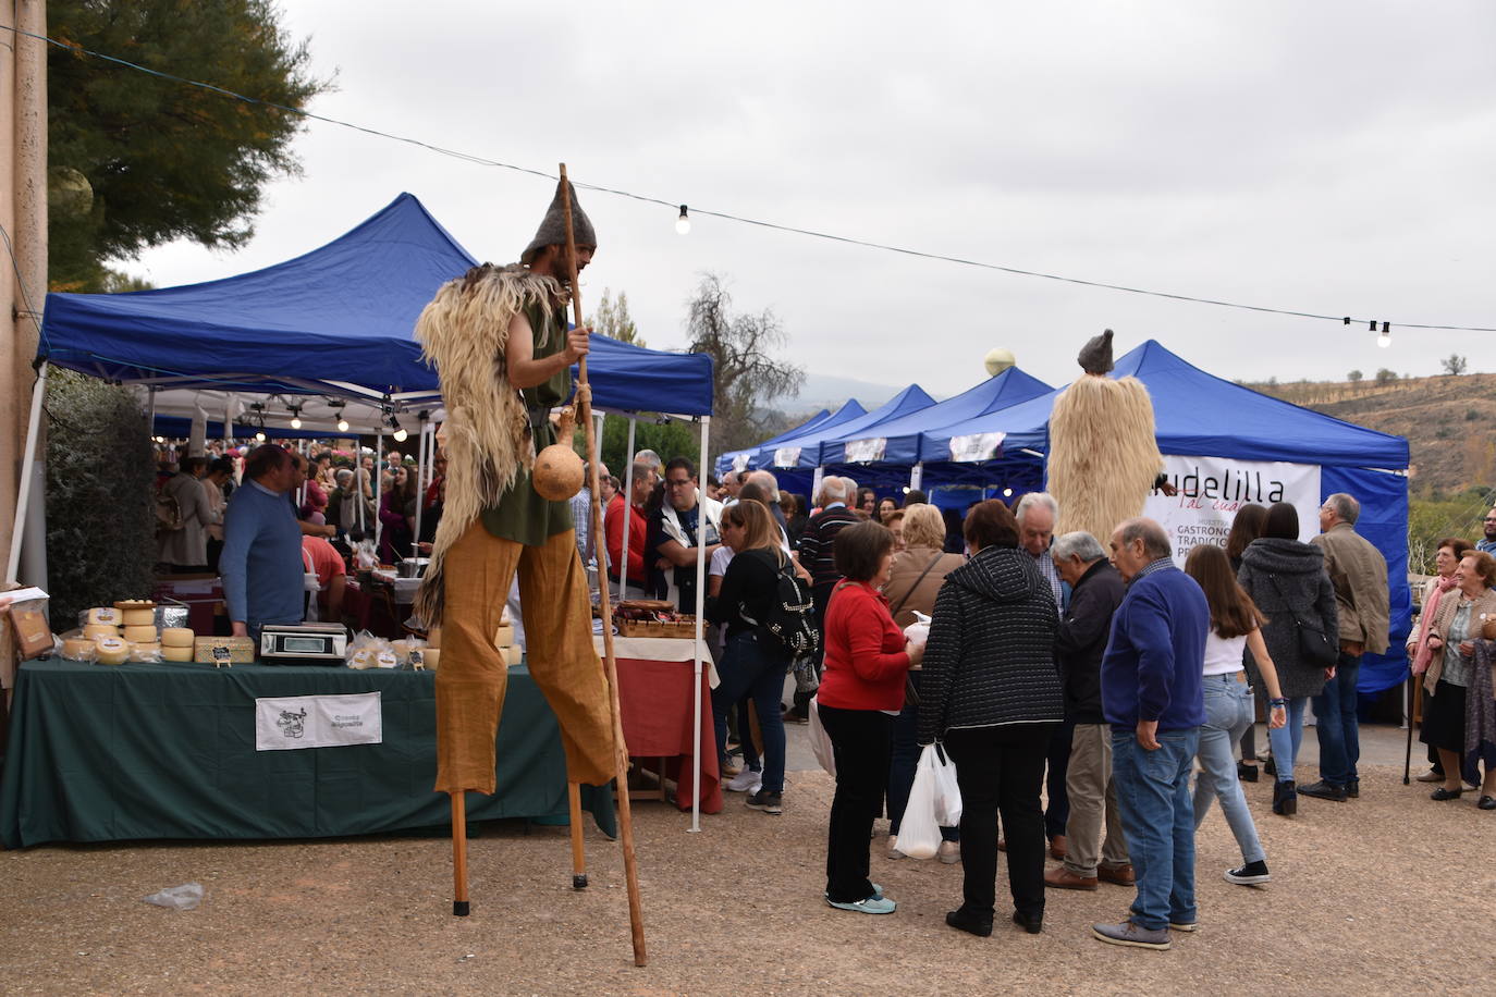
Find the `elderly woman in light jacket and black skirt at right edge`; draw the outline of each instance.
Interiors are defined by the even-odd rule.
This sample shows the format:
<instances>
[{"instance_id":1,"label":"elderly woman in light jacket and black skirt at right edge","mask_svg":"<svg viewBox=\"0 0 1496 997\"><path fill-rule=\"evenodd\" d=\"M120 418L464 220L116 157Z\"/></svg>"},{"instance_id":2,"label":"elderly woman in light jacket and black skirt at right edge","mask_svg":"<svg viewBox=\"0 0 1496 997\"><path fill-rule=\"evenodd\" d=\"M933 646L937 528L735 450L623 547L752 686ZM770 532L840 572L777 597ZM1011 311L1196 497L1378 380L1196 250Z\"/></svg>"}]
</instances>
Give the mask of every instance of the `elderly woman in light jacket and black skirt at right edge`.
<instances>
[{"instance_id":1,"label":"elderly woman in light jacket and black skirt at right edge","mask_svg":"<svg viewBox=\"0 0 1496 997\"><path fill-rule=\"evenodd\" d=\"M1429 625L1432 656L1423 676L1424 692L1432 700L1423 712L1420 740L1436 747L1444 762L1444 785L1430 798L1459 800L1465 792L1460 785L1462 764L1474 782L1478 762L1484 761L1486 782L1478 806L1496 810L1496 750L1490 744L1496 737L1492 667L1483 667L1475 659L1481 623L1496 617L1496 592L1492 590L1496 558L1483 550L1466 552L1454 570L1454 584L1456 590L1439 598L1439 608ZM1474 709L1466 712L1468 706Z\"/></svg>"}]
</instances>

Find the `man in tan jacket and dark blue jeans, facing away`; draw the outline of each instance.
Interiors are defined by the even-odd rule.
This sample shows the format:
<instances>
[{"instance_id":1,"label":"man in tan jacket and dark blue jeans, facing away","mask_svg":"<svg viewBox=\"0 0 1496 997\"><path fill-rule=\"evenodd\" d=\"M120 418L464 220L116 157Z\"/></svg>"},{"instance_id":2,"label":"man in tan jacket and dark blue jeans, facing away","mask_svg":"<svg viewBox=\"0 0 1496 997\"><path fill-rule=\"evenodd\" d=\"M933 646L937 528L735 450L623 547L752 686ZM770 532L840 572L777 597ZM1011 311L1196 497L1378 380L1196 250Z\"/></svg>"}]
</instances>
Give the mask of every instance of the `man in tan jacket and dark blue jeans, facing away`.
<instances>
[{"instance_id":1,"label":"man in tan jacket and dark blue jeans, facing away","mask_svg":"<svg viewBox=\"0 0 1496 997\"><path fill-rule=\"evenodd\" d=\"M1361 655L1387 650L1388 592L1387 561L1369 540L1355 532L1361 504L1337 492L1319 508L1324 570L1334 586L1340 620L1340 659L1334 677L1313 698L1315 732L1319 737L1319 782L1299 786L1299 794L1334 800L1358 797L1361 780L1355 762L1361 758L1355 722L1355 679Z\"/></svg>"}]
</instances>

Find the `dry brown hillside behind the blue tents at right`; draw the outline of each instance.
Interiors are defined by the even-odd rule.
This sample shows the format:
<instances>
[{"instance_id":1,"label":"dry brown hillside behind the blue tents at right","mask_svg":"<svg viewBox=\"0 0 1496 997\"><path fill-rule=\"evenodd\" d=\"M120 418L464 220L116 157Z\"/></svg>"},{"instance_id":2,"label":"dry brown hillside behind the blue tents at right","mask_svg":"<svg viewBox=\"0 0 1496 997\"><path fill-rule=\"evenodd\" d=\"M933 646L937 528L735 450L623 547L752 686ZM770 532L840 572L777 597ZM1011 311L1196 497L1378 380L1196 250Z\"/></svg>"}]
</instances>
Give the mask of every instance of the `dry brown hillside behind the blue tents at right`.
<instances>
[{"instance_id":1,"label":"dry brown hillside behind the blue tents at right","mask_svg":"<svg viewBox=\"0 0 1496 997\"><path fill-rule=\"evenodd\" d=\"M1248 384L1367 429L1408 438L1418 495L1496 486L1496 374Z\"/></svg>"}]
</instances>

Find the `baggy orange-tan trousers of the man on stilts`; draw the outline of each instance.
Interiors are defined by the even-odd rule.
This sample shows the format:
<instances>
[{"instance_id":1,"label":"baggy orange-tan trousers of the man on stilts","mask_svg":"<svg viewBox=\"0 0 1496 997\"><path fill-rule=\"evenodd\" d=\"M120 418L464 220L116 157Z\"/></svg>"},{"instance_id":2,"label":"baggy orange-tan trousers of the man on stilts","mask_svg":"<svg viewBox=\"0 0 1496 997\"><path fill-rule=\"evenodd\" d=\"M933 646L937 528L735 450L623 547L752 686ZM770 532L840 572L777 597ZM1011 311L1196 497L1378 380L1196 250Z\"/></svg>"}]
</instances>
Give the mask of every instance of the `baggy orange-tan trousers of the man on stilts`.
<instances>
[{"instance_id":1,"label":"baggy orange-tan trousers of the man on stilts","mask_svg":"<svg viewBox=\"0 0 1496 997\"><path fill-rule=\"evenodd\" d=\"M561 722L567 779L618 773L607 679L592 650L586 571L573 531L527 547L474 522L446 553L437 670L437 792L494 792L494 737L509 670L494 647L515 570L530 674Z\"/></svg>"}]
</instances>

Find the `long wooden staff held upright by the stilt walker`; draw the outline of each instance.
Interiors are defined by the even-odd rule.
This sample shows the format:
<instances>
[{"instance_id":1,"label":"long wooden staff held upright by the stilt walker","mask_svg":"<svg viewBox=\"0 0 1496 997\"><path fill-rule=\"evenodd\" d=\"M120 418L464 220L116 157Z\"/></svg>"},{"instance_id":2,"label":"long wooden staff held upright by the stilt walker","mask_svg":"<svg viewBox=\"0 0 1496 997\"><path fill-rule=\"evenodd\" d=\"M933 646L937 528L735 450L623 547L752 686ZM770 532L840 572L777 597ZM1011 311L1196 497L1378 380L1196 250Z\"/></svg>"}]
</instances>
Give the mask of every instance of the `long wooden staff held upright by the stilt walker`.
<instances>
[{"instance_id":1,"label":"long wooden staff held upright by the stilt walker","mask_svg":"<svg viewBox=\"0 0 1496 997\"><path fill-rule=\"evenodd\" d=\"M561 209L565 217L565 262L567 277L571 280L571 311L576 315L576 326L582 329L586 323L582 318L582 288L576 277L576 232L571 229L571 182L565 176L565 163L561 163ZM592 389L586 381L586 357L577 362L576 404L582 425L586 427L586 462L591 468L592 486L592 535L603 535L603 507L597 501L601 495L601 480L597 469L597 432L592 426ZM607 670L609 707L613 713L613 749L618 756L618 827L619 840L624 846L624 877L628 880L628 925L634 942L634 966L649 961L645 955L645 919L643 907L639 903L639 868L634 864L634 821L628 806L628 747L624 744L624 719L618 706L618 659L613 656L612 613L607 605L607 584L598 584L598 611L603 616L603 664Z\"/></svg>"}]
</instances>

